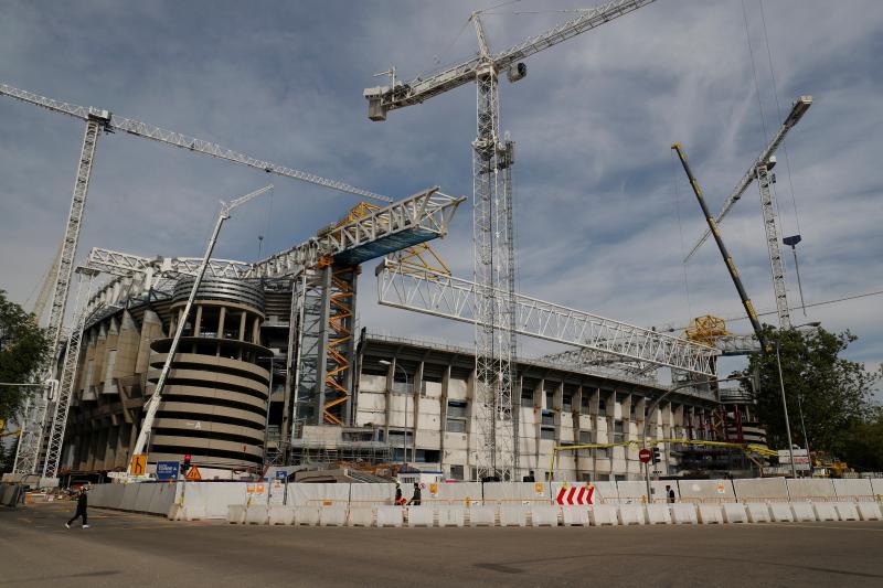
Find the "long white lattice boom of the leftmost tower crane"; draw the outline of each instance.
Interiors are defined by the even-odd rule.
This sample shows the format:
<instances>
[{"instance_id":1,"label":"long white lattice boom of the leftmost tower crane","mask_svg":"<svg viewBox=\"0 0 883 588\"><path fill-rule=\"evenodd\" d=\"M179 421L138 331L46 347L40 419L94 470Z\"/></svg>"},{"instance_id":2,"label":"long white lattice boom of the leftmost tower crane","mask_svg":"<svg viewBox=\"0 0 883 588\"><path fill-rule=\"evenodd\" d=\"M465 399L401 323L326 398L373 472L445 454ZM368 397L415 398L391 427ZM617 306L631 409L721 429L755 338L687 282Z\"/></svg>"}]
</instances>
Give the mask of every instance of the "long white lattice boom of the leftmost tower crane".
<instances>
[{"instance_id":1,"label":"long white lattice boom of the leftmost tower crane","mask_svg":"<svg viewBox=\"0 0 883 588\"><path fill-rule=\"evenodd\" d=\"M15 98L21 101L32 104L34 106L40 106L41 108L45 108L53 113L58 113L74 118L78 118L79 120L88 120L91 116L93 117L96 115L102 116L103 118L109 120L105 126L106 129L109 131L121 130L128 132L129 135L135 135L136 137L151 139L153 141L163 145L179 147L181 149L187 149L189 151L194 151L196 153L202 153L209 157L223 159L226 161L231 161L233 163L238 163L241 165L247 165L249 168L263 170L267 173L274 173L276 175L283 175L285 178L300 180L302 182L308 182L311 184L330 188L331 190L337 190L339 192L347 192L349 194L355 194L372 200L379 200L381 202L392 202L392 199L389 196L375 194L374 192L370 192L361 188L355 188L344 182L340 182L337 180L329 180L327 178L316 175L315 173L308 173L305 171L287 168L285 165L278 165L269 161L256 159L251 156L246 156L244 153L234 151L232 149L227 149L226 147L215 145L211 141L196 139L194 137L189 137L180 132L167 130L160 127L155 127L152 125L148 125L147 122L134 120L131 118L125 118L118 115L111 115L107 110L54 100L52 98L46 98L45 96L40 96L39 94L19 89L9 86L7 84L0 84L0 95L9 96L10 98Z\"/></svg>"}]
</instances>

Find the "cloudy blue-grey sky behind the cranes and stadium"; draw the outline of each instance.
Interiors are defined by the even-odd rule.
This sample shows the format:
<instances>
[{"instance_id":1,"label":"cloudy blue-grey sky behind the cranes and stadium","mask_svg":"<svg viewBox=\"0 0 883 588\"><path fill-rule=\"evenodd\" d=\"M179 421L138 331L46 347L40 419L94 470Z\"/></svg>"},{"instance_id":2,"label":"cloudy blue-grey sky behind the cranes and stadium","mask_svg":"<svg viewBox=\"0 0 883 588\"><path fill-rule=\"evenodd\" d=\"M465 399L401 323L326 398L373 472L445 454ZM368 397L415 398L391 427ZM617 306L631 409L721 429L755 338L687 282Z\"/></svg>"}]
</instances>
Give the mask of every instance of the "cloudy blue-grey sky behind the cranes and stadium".
<instances>
[{"instance_id":1,"label":"cloudy blue-grey sky behind the cranes and stadium","mask_svg":"<svg viewBox=\"0 0 883 588\"><path fill-rule=\"evenodd\" d=\"M475 86L368 119L365 87L394 65L411 78L474 55L467 19L499 2L361 1L0 3L0 82L106 108L237 151L393 197L440 185L471 195ZM553 0L482 15L492 52L574 17ZM500 128L513 169L518 288L625 322L680 331L715 314L748 332L670 145L680 141L720 210L800 95L809 113L779 151L783 235L799 233L807 303L883 289L883 3L874 0L659 0L526 61L500 82ZM83 124L0 99L0 289L30 306L61 240ZM787 157L786 157L787 150ZM268 182L238 209L216 257L246 261L301 243L358 197L270 178L131 136L98 152L78 247L199 256L219 200ZM457 276L472 271L467 201L433 247ZM775 309L753 184L722 233L758 311ZM360 325L471 344L468 324L380 307L373 263L359 289ZM786 249L791 306L799 307ZM876 368L883 297L792 311L859 336L847 352ZM763 317L777 323L775 314ZM519 353L545 343L520 340ZM727 360L721 371L740 366Z\"/></svg>"}]
</instances>

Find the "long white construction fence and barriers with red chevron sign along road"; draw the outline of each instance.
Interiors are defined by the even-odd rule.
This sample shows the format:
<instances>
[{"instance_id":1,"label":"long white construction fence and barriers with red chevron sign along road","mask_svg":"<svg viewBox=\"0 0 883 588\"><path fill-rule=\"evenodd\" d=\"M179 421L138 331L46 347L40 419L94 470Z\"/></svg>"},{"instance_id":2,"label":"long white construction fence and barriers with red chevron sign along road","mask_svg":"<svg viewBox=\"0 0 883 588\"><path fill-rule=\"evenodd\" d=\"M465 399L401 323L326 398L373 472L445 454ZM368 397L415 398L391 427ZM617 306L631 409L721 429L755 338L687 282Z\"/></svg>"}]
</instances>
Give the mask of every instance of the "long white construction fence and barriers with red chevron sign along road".
<instances>
[{"instance_id":1,"label":"long white construction fence and barriers with red chevron sign along road","mask_svg":"<svg viewBox=\"0 0 883 588\"><path fill-rule=\"evenodd\" d=\"M674 492L674 504L668 503L667 487ZM477 521L493 520L494 524L499 524L501 517L506 518L511 513L518 512L523 512L525 516L528 513L536 512L540 513L538 517L545 516L544 520L549 520L554 511L563 521L565 514L562 510L572 509L582 509L584 512L568 513L566 516L577 516L579 520L585 517L587 521L594 511L597 511L597 516L608 518L611 516L609 513L614 512L617 520L625 516L626 521L649 520L650 513L659 513L653 516L658 515L666 520L663 511L668 513L668 518L677 516L674 512L680 511L683 516L693 512L694 516L701 520L703 509L706 518L714 513L720 513L720 516L725 518L726 509L736 509L733 511L735 513L740 507L747 507L745 505L751 504L755 505L752 507L756 514L760 512L757 510L757 504L766 505L764 509L770 512L776 504L786 510L791 510L792 505L798 505L798 510L805 509L806 505L809 505L810 510L818 507L826 510L828 506L825 503L831 503L831 507L837 510L836 505L841 503L864 503L869 509L873 509L877 506L880 500L883 500L883 479L763 478L653 481L649 501L647 485L642 481L598 482L594 485L586 482L430 483L424 484L421 490L421 505L409 509L394 506L395 490L393 483L286 484L280 481L99 484L93 487L89 492L89 505L185 520L230 520L233 516L234 522L240 517L245 522L248 512L258 520L263 520L264 515L254 513L266 513L269 521L272 511L285 512L285 517L290 513L294 521L299 512L301 520L316 521L316 524L321 524L322 516L327 522L341 521L340 524L344 524L349 521L350 512L355 513L353 516L357 520L366 521L368 511L371 524L379 524L382 517L379 513L385 513L386 509L397 510L403 521L411 521L406 515L412 512L423 513L422 516L426 517L429 511L421 509L430 509L434 522L437 522L439 516L443 518L453 516L455 522L461 516L466 522L472 515ZM403 484L403 498L409 501L413 490L413 485ZM734 504L737 506L731 506ZM607 507L613 511L605 510ZM605 512L607 515L603 514ZM873 511L871 513L873 514ZM396 517L395 514L383 516ZM415 516L419 518L421 514ZM520 515L513 514L513 516L518 521ZM526 520L533 518L529 516Z\"/></svg>"}]
</instances>

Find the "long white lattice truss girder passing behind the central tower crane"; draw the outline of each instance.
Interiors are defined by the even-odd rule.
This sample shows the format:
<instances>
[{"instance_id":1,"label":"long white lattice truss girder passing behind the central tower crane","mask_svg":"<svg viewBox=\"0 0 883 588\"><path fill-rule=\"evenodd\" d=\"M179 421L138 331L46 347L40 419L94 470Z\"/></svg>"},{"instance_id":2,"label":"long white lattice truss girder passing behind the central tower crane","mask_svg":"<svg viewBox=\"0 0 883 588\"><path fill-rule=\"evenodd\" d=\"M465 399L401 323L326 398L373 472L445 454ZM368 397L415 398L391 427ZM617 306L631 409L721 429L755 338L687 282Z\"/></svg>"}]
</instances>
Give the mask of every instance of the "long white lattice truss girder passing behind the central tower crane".
<instances>
[{"instance_id":1,"label":"long white lattice truss girder passing behind the central tower crane","mask_svg":"<svg viewBox=\"0 0 883 588\"><path fill-rule=\"evenodd\" d=\"M377 300L384 306L475 322L478 292L474 281L429 270L403 270L389 259L377 266ZM713 360L721 353L685 339L522 295L515 296L515 330L519 334L575 345L629 362L706 376L714 375Z\"/></svg>"}]
</instances>

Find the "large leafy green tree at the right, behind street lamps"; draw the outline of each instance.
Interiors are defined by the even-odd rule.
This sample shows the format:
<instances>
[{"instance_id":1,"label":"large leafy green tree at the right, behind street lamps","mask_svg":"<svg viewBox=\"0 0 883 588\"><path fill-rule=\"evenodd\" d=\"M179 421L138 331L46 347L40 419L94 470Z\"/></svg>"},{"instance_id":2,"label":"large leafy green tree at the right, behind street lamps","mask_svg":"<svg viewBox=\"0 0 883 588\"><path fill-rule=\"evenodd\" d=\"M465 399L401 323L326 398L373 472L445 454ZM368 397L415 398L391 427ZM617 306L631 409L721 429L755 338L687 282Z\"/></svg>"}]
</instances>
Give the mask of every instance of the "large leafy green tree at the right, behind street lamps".
<instances>
[{"instance_id":1,"label":"large leafy green tree at the right, behind street lamps","mask_svg":"<svg viewBox=\"0 0 883 588\"><path fill-rule=\"evenodd\" d=\"M872 391L880 374L840 356L857 339L849 331L764 329L770 350L752 355L743 375L757 371L757 416L766 426L770 447L788 447L776 362L778 345L792 442L805 445L805 425L810 449L842 457L848 431L855 424L868 423L873 410Z\"/></svg>"}]
</instances>

